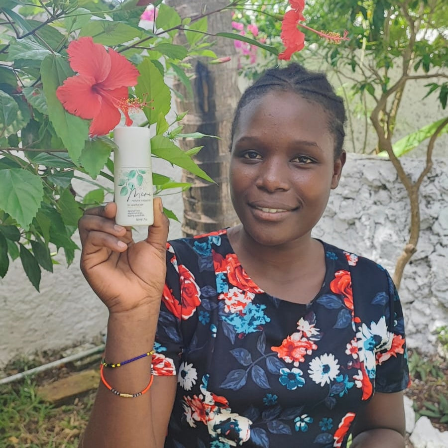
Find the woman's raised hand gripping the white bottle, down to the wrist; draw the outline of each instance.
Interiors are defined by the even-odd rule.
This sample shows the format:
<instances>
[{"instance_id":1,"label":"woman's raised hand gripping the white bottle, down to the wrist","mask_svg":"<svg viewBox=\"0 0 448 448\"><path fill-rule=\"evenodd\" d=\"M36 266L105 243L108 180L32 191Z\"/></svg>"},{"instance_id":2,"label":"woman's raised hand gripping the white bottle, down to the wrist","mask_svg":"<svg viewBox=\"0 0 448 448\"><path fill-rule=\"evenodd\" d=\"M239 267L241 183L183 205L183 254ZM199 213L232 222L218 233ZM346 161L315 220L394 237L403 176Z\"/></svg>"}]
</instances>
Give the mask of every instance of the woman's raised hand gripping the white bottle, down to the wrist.
<instances>
[{"instance_id":1,"label":"woman's raised hand gripping the white bottle, down to the wrist","mask_svg":"<svg viewBox=\"0 0 448 448\"><path fill-rule=\"evenodd\" d=\"M129 227L115 224L116 204L87 210L79 220L81 270L109 308L122 313L150 306L158 313L166 275L168 218L154 198L154 224L135 243Z\"/></svg>"}]
</instances>

